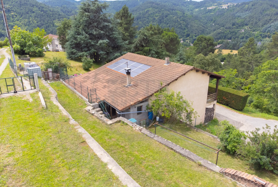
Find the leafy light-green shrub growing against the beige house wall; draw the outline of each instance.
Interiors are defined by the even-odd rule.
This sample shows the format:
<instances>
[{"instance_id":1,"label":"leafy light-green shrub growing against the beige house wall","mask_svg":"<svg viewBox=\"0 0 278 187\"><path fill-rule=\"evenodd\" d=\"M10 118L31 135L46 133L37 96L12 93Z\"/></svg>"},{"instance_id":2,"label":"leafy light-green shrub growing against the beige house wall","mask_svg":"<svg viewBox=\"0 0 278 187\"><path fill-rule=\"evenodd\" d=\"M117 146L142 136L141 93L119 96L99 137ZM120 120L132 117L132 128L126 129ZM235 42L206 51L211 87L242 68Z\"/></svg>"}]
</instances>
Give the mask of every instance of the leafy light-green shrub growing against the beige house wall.
<instances>
[{"instance_id":1,"label":"leafy light-green shrub growing against the beige house wall","mask_svg":"<svg viewBox=\"0 0 278 187\"><path fill-rule=\"evenodd\" d=\"M192 124L192 116L197 117L197 112L192 108L192 103L183 99L180 92L168 91L163 88L154 94L155 100L151 100L150 108L155 115L161 115L166 121L173 122L181 120L184 123Z\"/></svg>"}]
</instances>

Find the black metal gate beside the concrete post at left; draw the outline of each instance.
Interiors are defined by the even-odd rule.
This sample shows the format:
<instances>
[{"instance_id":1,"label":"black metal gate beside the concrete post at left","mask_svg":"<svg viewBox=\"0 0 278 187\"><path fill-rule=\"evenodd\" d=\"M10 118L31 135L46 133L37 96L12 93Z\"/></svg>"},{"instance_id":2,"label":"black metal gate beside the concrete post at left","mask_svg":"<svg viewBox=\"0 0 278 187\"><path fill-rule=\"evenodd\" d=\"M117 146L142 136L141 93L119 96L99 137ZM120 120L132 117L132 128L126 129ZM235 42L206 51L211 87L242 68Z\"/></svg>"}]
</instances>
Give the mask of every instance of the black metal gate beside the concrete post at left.
<instances>
[{"instance_id":1,"label":"black metal gate beside the concrete post at left","mask_svg":"<svg viewBox=\"0 0 278 187\"><path fill-rule=\"evenodd\" d=\"M0 79L0 94L36 89L33 75Z\"/></svg>"}]
</instances>

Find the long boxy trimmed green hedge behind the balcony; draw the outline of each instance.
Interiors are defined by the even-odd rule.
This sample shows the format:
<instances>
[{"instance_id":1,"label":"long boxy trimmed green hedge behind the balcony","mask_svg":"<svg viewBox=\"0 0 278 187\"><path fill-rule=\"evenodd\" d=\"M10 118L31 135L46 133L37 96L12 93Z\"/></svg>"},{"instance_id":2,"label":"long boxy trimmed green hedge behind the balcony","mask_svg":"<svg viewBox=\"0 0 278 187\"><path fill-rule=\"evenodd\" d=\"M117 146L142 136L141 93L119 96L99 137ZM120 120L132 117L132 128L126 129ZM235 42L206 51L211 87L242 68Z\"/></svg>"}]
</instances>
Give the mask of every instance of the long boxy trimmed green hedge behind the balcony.
<instances>
[{"instance_id":1,"label":"long boxy trimmed green hedge behind the balcony","mask_svg":"<svg viewBox=\"0 0 278 187\"><path fill-rule=\"evenodd\" d=\"M215 84L209 84L209 92L215 93ZM243 91L218 86L217 103L229 106L235 110L243 110L249 94Z\"/></svg>"}]
</instances>

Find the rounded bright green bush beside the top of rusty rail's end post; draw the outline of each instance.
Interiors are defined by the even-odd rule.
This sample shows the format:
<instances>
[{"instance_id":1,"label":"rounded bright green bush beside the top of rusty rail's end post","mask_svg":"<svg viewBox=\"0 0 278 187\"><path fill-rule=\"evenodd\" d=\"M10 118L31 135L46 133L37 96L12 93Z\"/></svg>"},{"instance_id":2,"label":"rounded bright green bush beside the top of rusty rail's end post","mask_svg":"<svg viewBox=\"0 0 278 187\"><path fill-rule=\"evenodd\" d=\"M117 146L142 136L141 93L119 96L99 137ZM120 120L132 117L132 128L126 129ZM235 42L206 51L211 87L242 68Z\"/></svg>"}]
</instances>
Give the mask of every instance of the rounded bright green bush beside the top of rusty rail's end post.
<instances>
[{"instance_id":1,"label":"rounded bright green bush beside the top of rusty rail's end post","mask_svg":"<svg viewBox=\"0 0 278 187\"><path fill-rule=\"evenodd\" d=\"M223 127L219 135L219 148L230 154L234 154L239 149L239 145L245 141L246 135L243 131L236 129L227 120L221 121L219 124Z\"/></svg>"}]
</instances>

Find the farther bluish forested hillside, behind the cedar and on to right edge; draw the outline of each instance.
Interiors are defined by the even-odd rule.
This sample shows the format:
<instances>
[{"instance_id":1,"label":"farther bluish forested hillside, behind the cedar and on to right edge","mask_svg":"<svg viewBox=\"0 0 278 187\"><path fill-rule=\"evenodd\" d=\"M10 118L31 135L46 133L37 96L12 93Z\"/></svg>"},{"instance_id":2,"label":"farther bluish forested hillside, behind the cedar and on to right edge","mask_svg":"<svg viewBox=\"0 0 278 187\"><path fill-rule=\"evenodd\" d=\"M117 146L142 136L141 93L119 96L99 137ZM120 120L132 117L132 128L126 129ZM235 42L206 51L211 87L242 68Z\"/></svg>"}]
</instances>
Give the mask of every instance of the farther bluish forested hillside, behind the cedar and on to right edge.
<instances>
[{"instance_id":1,"label":"farther bluish forested hillside, behind the cedar and on to right edge","mask_svg":"<svg viewBox=\"0 0 278 187\"><path fill-rule=\"evenodd\" d=\"M270 37L278 30L278 1L254 0L243 2L232 1L186 1L186 0L126 0L126 1L100 1L110 4L106 12L115 13L126 4L134 15L134 26L138 29L149 24L160 25L162 28L174 27L180 38L193 40L201 34L211 35L220 39L248 39L256 40ZM228 8L220 8L226 3ZM43 2L50 6L60 7L68 16L72 15L80 2L61 1ZM239 4L240 3L240 4ZM216 7L207 9L209 7ZM73 9L72 11L70 9ZM244 32L240 32L245 29ZM267 35L269 33L269 35Z\"/></svg>"}]
</instances>

